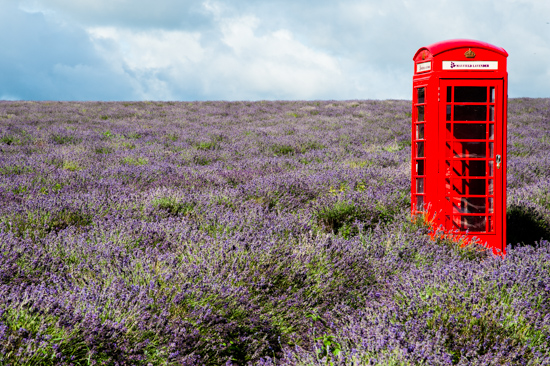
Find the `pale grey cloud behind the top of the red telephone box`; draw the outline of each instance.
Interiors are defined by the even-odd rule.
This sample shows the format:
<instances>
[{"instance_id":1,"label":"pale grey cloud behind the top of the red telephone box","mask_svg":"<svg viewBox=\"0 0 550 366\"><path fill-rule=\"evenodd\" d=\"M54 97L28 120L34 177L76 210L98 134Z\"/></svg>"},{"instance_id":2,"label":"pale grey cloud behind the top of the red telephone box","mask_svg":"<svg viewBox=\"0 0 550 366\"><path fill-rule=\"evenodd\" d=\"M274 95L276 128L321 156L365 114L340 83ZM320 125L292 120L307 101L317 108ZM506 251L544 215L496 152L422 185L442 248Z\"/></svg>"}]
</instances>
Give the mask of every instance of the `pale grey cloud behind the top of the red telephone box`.
<instances>
[{"instance_id":1,"label":"pale grey cloud behind the top of the red telephone box","mask_svg":"<svg viewBox=\"0 0 550 366\"><path fill-rule=\"evenodd\" d=\"M510 54L510 96L550 96L550 3L528 0L240 1L264 28L289 29L304 44L350 60L359 74L374 69L409 90L412 56L422 46L470 38ZM367 77L367 75L365 75ZM365 79L368 82L368 79ZM396 80L397 82L397 80ZM385 94L391 97L390 91Z\"/></svg>"}]
</instances>

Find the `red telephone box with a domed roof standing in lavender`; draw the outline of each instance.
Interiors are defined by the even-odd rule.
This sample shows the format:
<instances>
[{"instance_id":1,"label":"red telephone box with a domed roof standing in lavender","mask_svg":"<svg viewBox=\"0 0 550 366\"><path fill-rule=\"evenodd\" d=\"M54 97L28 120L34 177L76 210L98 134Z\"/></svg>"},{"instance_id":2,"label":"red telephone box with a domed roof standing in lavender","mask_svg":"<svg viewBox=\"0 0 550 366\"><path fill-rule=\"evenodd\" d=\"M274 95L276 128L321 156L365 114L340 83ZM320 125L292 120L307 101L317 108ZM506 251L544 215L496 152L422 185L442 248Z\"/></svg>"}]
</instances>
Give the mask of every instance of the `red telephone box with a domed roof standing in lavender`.
<instances>
[{"instance_id":1,"label":"red telephone box with a domed roof standing in lavender","mask_svg":"<svg viewBox=\"0 0 550 366\"><path fill-rule=\"evenodd\" d=\"M506 251L507 57L459 39L413 58L413 215L496 254Z\"/></svg>"}]
</instances>

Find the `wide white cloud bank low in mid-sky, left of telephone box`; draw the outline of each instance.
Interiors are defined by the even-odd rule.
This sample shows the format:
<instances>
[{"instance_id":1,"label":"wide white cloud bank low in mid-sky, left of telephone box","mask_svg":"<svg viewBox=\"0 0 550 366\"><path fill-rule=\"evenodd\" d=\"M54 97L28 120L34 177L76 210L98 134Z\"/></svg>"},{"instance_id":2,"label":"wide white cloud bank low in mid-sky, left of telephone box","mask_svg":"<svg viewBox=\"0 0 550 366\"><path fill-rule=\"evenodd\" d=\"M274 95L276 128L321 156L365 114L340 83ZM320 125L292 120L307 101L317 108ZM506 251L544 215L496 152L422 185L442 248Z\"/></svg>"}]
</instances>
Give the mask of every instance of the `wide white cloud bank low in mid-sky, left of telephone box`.
<instances>
[{"instance_id":1,"label":"wide white cloud bank low in mid-sky, left of telephone box","mask_svg":"<svg viewBox=\"0 0 550 366\"><path fill-rule=\"evenodd\" d=\"M88 32L106 58L149 86L146 98L321 99L336 89L347 92L335 57L305 46L285 29L258 34L260 20L254 16L226 17L213 5L207 9L219 31L207 41L182 30ZM118 45L114 59L113 49L102 46L106 41Z\"/></svg>"}]
</instances>

